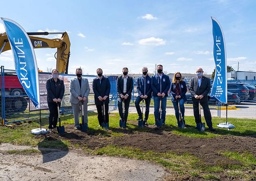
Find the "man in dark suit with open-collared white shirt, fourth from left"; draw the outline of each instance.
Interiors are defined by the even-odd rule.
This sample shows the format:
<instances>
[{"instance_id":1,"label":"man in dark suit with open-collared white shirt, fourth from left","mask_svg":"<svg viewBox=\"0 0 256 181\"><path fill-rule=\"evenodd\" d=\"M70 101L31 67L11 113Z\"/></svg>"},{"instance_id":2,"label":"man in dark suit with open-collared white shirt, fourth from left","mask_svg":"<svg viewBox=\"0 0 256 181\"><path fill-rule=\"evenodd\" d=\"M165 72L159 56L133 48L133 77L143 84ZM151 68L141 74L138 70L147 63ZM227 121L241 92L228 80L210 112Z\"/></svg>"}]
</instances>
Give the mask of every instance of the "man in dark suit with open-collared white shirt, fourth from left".
<instances>
[{"instance_id":1,"label":"man in dark suit with open-collared white shirt, fourth from left","mask_svg":"<svg viewBox=\"0 0 256 181\"><path fill-rule=\"evenodd\" d=\"M128 117L128 109L131 101L131 92L133 90L133 78L128 76L128 68L123 68L123 75L117 78L117 106L120 119L123 121L123 128L126 127L126 121ZM123 101L125 103L125 114L123 116ZM120 124L121 126L121 124Z\"/></svg>"}]
</instances>

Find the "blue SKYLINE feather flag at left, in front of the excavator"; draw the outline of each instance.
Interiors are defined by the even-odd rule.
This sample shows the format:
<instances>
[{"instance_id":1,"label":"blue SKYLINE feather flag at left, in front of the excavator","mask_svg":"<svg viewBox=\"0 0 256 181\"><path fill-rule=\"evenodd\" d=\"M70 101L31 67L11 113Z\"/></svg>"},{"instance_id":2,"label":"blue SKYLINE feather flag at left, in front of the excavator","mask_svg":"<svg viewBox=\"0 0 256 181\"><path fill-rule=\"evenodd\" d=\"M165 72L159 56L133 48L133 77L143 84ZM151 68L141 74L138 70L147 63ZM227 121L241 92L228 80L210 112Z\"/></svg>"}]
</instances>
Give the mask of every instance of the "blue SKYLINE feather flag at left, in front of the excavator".
<instances>
[{"instance_id":1,"label":"blue SKYLINE feather flag at left, in front of the excavator","mask_svg":"<svg viewBox=\"0 0 256 181\"><path fill-rule=\"evenodd\" d=\"M33 45L26 31L18 23L6 18L1 19L10 41L19 81L35 107L40 109L38 70Z\"/></svg>"}]
</instances>

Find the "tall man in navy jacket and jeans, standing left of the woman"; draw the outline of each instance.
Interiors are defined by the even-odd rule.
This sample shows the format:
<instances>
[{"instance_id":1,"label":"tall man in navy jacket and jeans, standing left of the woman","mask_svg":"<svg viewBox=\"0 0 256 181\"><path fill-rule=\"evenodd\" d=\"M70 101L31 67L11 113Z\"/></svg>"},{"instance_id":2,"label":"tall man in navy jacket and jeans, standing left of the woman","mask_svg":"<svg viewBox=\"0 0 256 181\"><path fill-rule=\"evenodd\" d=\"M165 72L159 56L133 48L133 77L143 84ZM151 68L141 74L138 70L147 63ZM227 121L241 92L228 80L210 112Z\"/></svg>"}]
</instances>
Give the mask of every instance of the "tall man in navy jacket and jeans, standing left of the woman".
<instances>
[{"instance_id":1,"label":"tall man in navy jacket and jeans, standing left of the woman","mask_svg":"<svg viewBox=\"0 0 256 181\"><path fill-rule=\"evenodd\" d=\"M165 75L162 72L162 70L163 70L162 65L158 65L157 74L152 76L151 78L151 88L152 88L152 95L154 97L155 121L157 121L159 118L160 100L162 100L160 119L162 120L162 124L165 125L166 103L167 103L168 90L170 89L170 86L171 86L171 81L169 76Z\"/></svg>"}]
</instances>

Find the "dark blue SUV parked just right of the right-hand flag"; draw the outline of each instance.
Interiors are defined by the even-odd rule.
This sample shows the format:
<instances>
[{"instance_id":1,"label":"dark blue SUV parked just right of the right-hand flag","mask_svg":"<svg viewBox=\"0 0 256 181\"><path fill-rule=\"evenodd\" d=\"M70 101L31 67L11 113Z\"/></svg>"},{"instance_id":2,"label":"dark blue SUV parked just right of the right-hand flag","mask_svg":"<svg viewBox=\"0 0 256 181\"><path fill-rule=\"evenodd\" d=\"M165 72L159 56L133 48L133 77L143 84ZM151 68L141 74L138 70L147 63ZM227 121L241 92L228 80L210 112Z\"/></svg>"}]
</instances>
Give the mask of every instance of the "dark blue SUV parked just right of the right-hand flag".
<instances>
[{"instance_id":1,"label":"dark blue SUV parked just right of the right-hand flag","mask_svg":"<svg viewBox=\"0 0 256 181\"><path fill-rule=\"evenodd\" d=\"M244 85L244 83L227 82L227 91L237 93L240 101L249 100L249 89Z\"/></svg>"}]
</instances>

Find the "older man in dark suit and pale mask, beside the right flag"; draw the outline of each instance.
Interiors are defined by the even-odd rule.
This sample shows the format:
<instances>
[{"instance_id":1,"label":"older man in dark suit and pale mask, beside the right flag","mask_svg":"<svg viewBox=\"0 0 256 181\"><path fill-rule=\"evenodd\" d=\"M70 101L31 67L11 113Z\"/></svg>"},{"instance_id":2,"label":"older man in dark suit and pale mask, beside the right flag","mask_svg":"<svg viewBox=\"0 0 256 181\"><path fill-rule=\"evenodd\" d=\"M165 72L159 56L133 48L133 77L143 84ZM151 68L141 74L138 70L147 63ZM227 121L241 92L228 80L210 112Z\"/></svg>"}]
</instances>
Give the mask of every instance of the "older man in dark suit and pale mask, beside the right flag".
<instances>
[{"instance_id":1,"label":"older man in dark suit and pale mask, beside the right flag","mask_svg":"<svg viewBox=\"0 0 256 181\"><path fill-rule=\"evenodd\" d=\"M210 131L214 131L215 129L212 127L212 115L208 105L208 93L211 90L210 79L203 76L203 69L197 68L196 77L191 78L189 81L189 92L192 95L193 109L194 109L194 117L196 121L196 125L200 125L200 115L199 115L199 101L200 105L202 105L204 110L204 118L206 124Z\"/></svg>"}]
</instances>

